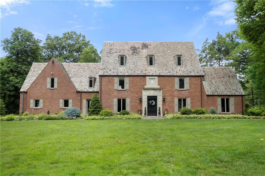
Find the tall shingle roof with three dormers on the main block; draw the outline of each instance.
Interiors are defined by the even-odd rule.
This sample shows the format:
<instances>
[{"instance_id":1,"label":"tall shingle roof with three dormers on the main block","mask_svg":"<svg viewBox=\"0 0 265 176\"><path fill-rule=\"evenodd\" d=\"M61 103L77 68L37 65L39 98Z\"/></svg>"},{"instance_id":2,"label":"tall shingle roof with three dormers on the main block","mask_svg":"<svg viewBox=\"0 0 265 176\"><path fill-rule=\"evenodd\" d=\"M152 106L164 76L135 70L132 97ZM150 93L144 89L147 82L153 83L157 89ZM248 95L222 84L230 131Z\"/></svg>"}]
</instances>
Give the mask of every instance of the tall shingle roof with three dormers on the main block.
<instances>
[{"instance_id":1,"label":"tall shingle roof with three dormers on the main block","mask_svg":"<svg viewBox=\"0 0 265 176\"><path fill-rule=\"evenodd\" d=\"M126 55L119 67L118 55ZM148 67L147 55L154 55ZM183 67L174 56L182 55ZM204 75L193 42L104 42L99 75Z\"/></svg>"}]
</instances>

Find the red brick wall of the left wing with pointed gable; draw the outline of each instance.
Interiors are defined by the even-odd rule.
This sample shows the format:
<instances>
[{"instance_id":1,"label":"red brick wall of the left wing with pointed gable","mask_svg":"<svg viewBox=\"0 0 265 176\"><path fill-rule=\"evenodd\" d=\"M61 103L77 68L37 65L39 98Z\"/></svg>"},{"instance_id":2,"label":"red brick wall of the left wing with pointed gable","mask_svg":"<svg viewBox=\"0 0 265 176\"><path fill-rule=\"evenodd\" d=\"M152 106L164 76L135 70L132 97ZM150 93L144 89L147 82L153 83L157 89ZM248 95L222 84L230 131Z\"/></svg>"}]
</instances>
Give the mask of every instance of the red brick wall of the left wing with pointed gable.
<instances>
[{"instance_id":1,"label":"red brick wall of the left wing with pointed gable","mask_svg":"<svg viewBox=\"0 0 265 176\"><path fill-rule=\"evenodd\" d=\"M51 74L51 72L53 74ZM58 77L57 89L47 89L47 77ZM91 99L94 93L82 92L81 100ZM65 75L58 63L54 61L54 64L52 64L50 61L29 87L27 93L24 93L24 112L28 111L30 114L40 114L42 112L46 113L49 110L51 114L55 112L59 113L60 111L65 110L59 108L60 99L72 99L72 107L80 109L80 94L80 92L76 92L76 88ZM23 93L20 93L20 113L22 113L22 95ZM43 108L30 108L30 99L43 99ZM81 103L83 103L83 101L81 101Z\"/></svg>"}]
</instances>

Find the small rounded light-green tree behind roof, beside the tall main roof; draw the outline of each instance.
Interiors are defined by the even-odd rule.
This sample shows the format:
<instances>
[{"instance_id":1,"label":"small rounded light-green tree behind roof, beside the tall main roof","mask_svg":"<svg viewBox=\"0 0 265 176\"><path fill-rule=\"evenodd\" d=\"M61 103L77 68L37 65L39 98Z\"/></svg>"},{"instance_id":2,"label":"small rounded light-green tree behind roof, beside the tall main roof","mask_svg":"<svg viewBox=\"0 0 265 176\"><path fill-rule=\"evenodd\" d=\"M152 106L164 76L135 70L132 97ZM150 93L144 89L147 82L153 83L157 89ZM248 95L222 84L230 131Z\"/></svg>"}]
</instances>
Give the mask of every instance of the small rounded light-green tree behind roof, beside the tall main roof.
<instances>
[{"instance_id":1,"label":"small rounded light-green tree behind roof, beside the tall main roof","mask_svg":"<svg viewBox=\"0 0 265 176\"><path fill-rule=\"evenodd\" d=\"M79 60L79 62L100 62L100 61L101 57L98 54L97 49L94 48L93 45L83 49Z\"/></svg>"}]
</instances>

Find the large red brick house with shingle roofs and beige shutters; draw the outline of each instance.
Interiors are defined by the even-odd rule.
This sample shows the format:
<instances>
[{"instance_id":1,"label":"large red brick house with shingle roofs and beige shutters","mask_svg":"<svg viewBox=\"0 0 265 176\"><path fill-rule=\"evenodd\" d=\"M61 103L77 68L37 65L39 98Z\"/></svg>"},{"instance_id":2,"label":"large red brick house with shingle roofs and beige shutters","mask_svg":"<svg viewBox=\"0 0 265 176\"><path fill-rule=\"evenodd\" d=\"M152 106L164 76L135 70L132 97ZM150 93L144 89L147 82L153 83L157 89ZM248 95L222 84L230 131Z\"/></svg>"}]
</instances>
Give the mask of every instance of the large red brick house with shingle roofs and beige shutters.
<instances>
[{"instance_id":1,"label":"large red brick house with shingle roofs and beige shutters","mask_svg":"<svg viewBox=\"0 0 265 176\"><path fill-rule=\"evenodd\" d=\"M33 63L20 90L20 113L87 114L92 95L104 109L148 116L211 106L243 114L245 94L232 67L201 67L192 42L104 42L101 63Z\"/></svg>"}]
</instances>

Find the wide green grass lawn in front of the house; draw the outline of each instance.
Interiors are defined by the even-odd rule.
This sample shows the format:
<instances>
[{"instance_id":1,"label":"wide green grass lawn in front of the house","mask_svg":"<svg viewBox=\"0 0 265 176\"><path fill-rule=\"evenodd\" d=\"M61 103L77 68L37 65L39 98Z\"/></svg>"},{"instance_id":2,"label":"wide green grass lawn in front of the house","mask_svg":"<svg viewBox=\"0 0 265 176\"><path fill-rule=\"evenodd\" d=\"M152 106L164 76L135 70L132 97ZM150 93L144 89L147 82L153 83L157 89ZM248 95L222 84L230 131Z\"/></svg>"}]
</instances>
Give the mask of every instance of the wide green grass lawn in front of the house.
<instances>
[{"instance_id":1,"label":"wide green grass lawn in front of the house","mask_svg":"<svg viewBox=\"0 0 265 176\"><path fill-rule=\"evenodd\" d=\"M3 121L1 175L265 175L260 138L264 120Z\"/></svg>"}]
</instances>

